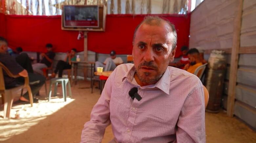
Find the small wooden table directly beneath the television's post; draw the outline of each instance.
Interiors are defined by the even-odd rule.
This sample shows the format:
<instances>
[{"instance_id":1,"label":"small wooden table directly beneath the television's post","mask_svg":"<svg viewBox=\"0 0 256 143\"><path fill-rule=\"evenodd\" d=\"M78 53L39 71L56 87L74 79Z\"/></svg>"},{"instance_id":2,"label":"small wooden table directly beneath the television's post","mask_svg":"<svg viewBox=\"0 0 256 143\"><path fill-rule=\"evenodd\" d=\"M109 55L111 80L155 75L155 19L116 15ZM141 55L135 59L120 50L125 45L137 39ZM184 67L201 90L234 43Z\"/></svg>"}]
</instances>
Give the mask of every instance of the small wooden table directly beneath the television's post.
<instances>
[{"instance_id":1,"label":"small wooden table directly beneath the television's post","mask_svg":"<svg viewBox=\"0 0 256 143\"><path fill-rule=\"evenodd\" d=\"M88 61L80 61L80 62L76 62L76 61L72 61L71 62L72 63L72 65L71 65L71 86L73 85L73 82L75 81L75 85L76 85L76 83L77 83L77 78L76 78L76 76L77 76L77 70L78 70L78 66L79 67L82 67L83 69L85 68L85 67L90 67L91 68L91 85L92 85L92 83L93 83L93 72L94 72L94 65L95 65L95 62L88 62ZM78 65L78 64L80 64L80 65ZM85 64L91 64L91 66L88 66L88 65L85 65ZM74 81L73 81L73 75L74 75L74 73L75 73L75 79L74 79ZM87 77L87 75L85 75L85 77L84 78L86 78Z\"/></svg>"}]
</instances>

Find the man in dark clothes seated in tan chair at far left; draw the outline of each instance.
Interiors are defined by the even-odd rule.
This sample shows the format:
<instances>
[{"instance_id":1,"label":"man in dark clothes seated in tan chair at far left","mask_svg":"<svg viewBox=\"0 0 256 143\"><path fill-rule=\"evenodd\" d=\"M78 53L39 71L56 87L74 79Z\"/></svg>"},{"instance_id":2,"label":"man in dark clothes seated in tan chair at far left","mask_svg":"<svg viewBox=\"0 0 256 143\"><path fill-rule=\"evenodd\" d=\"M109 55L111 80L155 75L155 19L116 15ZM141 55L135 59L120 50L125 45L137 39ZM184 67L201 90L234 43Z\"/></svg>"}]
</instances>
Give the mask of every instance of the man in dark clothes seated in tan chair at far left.
<instances>
[{"instance_id":1,"label":"man in dark clothes seated in tan chair at far left","mask_svg":"<svg viewBox=\"0 0 256 143\"><path fill-rule=\"evenodd\" d=\"M38 91L41 89L43 84L45 83L45 77L41 75L35 75L33 73L28 73L26 69L24 69L22 66L20 66L13 57L11 57L9 54L6 54L7 50L7 41L3 38L0 37L0 62L3 63L13 75L20 75L21 77L19 78L11 78L7 75L7 73L4 72L4 82L5 82L5 87L8 88L13 88L17 84L24 84L24 78L29 76L29 81L32 95L35 95L38 93ZM26 53L23 53L26 54ZM27 56L28 57L28 56ZM21 101L29 102L29 95L28 92L26 92L24 95L20 97ZM37 102L37 99L33 100L34 102Z\"/></svg>"}]
</instances>

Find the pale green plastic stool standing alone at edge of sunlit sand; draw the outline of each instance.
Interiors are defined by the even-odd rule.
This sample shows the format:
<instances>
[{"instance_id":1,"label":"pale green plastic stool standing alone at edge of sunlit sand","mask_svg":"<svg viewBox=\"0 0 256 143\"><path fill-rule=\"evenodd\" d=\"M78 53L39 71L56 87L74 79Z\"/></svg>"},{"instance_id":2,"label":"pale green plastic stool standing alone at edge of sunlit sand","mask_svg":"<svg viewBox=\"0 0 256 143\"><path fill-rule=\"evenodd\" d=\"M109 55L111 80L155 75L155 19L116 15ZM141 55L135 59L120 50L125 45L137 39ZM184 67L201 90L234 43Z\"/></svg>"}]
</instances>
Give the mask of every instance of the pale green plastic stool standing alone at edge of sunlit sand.
<instances>
[{"instance_id":1,"label":"pale green plastic stool standing alone at edge of sunlit sand","mask_svg":"<svg viewBox=\"0 0 256 143\"><path fill-rule=\"evenodd\" d=\"M72 98L71 85L70 85L69 79L68 78L53 78L53 79L51 79L51 82L50 82L48 102L50 101L51 95L52 95L52 85L54 84L54 96L56 96L57 95L57 86L59 83L61 83L61 85L62 85L62 94L63 94L64 102L67 101L67 86L68 86L68 90L69 90L69 96Z\"/></svg>"}]
</instances>

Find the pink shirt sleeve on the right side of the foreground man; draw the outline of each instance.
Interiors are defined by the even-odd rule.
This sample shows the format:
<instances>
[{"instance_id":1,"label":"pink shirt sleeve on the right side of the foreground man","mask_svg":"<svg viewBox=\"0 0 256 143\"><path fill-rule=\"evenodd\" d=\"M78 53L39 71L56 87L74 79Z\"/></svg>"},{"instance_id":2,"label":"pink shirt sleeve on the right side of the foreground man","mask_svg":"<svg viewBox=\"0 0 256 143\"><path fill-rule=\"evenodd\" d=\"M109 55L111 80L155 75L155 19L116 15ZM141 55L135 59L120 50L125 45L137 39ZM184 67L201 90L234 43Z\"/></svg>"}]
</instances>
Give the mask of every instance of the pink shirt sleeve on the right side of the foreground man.
<instances>
[{"instance_id":1,"label":"pink shirt sleeve on the right side of the foreground man","mask_svg":"<svg viewBox=\"0 0 256 143\"><path fill-rule=\"evenodd\" d=\"M203 85L199 83L186 98L177 123L177 143L205 143Z\"/></svg>"}]
</instances>

